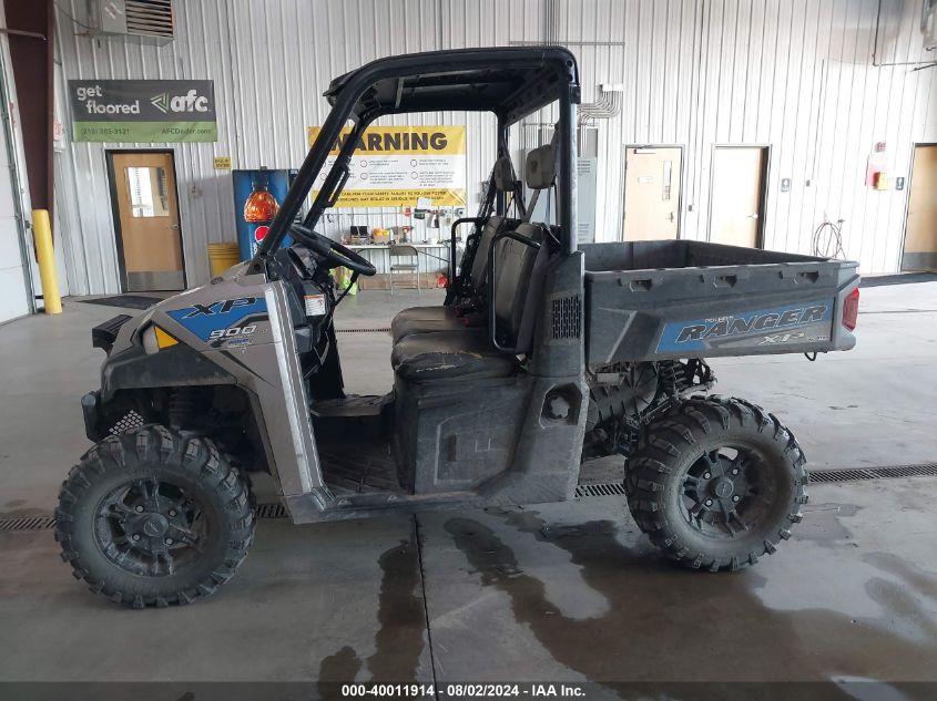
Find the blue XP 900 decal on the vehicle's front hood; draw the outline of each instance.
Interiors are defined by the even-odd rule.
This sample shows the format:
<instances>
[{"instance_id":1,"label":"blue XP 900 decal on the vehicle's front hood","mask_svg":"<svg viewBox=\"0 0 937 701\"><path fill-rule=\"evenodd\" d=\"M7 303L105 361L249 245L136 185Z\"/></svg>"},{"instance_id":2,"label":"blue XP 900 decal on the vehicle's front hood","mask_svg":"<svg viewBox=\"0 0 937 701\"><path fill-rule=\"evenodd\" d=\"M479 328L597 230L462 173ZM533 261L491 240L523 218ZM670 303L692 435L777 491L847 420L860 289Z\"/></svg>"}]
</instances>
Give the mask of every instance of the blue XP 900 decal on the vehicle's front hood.
<instances>
[{"instance_id":1,"label":"blue XP 900 decal on the vehicle's front hood","mask_svg":"<svg viewBox=\"0 0 937 701\"><path fill-rule=\"evenodd\" d=\"M247 346L266 331L267 302L263 297L220 299L208 305L192 305L167 311L174 321L215 348Z\"/></svg>"}]
</instances>

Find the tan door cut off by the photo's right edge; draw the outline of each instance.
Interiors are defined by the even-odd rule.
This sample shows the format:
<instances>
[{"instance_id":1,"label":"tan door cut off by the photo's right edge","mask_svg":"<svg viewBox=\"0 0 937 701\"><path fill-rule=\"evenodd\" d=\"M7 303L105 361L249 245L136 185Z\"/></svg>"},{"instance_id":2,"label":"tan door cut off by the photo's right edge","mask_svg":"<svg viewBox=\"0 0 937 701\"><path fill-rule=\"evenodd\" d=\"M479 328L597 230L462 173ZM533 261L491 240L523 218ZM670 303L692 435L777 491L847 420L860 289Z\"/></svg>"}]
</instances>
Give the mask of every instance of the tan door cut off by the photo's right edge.
<instances>
[{"instance_id":1,"label":"tan door cut off by the photo's right edge","mask_svg":"<svg viewBox=\"0 0 937 701\"><path fill-rule=\"evenodd\" d=\"M937 270L937 145L915 146L902 270Z\"/></svg>"}]
</instances>

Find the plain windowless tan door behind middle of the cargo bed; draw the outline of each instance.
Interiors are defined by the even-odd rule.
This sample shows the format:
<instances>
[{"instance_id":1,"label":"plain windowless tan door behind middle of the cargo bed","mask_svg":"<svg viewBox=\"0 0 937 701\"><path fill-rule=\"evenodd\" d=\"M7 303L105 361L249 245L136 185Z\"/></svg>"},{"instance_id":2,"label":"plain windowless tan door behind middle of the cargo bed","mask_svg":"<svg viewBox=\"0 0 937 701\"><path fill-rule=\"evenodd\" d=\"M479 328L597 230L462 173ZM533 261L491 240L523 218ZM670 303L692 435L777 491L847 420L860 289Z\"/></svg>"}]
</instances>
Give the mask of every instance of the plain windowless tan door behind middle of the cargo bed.
<instances>
[{"instance_id":1,"label":"plain windowless tan door behind middle of the cargo bed","mask_svg":"<svg viewBox=\"0 0 937 701\"><path fill-rule=\"evenodd\" d=\"M717 146L713 152L710 240L757 248L761 244L767 148Z\"/></svg>"}]
</instances>

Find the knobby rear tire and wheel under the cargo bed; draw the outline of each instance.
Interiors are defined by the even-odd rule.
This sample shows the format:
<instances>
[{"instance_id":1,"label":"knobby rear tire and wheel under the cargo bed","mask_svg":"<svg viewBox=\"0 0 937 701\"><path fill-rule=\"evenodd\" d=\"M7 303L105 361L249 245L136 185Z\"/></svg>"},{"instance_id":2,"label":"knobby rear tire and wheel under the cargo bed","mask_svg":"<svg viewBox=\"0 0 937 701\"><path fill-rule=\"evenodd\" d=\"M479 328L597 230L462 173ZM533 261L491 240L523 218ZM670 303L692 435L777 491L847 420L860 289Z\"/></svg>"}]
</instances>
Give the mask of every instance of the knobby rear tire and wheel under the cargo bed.
<instances>
[{"instance_id":1,"label":"knobby rear tire and wheel under the cargo bed","mask_svg":"<svg viewBox=\"0 0 937 701\"><path fill-rule=\"evenodd\" d=\"M791 431L760 406L695 396L648 426L627 466L628 505L668 557L735 570L774 553L803 518L805 462Z\"/></svg>"}]
</instances>

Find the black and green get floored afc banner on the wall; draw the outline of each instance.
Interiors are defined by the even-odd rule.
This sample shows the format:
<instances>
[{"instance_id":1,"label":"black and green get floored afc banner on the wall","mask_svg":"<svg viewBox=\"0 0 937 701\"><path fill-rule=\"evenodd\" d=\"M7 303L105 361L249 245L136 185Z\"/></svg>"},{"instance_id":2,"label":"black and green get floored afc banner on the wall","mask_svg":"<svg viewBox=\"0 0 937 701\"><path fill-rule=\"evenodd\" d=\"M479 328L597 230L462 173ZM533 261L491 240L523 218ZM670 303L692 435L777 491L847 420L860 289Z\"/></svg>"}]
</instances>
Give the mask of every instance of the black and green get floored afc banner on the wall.
<instances>
[{"instance_id":1,"label":"black and green get floored afc banner on the wall","mask_svg":"<svg viewBox=\"0 0 937 701\"><path fill-rule=\"evenodd\" d=\"M213 81L69 81L72 138L217 141Z\"/></svg>"}]
</instances>

